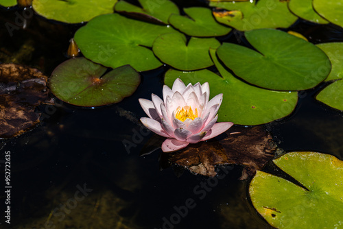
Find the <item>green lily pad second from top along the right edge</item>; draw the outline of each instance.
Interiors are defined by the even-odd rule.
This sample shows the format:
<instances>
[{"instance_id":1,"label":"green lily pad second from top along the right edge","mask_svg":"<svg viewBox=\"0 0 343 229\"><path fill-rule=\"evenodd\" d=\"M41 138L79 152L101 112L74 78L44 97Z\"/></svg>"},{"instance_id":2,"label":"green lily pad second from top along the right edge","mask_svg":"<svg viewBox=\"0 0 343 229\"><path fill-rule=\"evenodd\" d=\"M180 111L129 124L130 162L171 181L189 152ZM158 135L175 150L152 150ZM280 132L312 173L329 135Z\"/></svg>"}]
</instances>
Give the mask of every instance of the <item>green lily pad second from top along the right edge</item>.
<instances>
[{"instance_id":1,"label":"green lily pad second from top along the right edge","mask_svg":"<svg viewBox=\"0 0 343 229\"><path fill-rule=\"evenodd\" d=\"M343 43L322 43L316 46L327 54L332 65L325 81L343 79Z\"/></svg>"}]
</instances>

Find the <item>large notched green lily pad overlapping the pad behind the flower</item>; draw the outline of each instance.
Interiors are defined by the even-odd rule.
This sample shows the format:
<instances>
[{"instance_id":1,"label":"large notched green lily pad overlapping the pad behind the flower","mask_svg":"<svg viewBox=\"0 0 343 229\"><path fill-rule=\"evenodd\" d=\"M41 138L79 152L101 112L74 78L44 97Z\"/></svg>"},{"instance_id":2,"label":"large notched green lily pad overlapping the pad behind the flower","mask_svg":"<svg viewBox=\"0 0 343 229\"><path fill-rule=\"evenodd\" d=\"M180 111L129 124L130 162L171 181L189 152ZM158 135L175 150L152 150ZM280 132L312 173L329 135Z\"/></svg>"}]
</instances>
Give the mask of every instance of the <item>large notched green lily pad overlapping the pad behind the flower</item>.
<instances>
[{"instance_id":1,"label":"large notched green lily pad overlapping the pad behind the flower","mask_svg":"<svg viewBox=\"0 0 343 229\"><path fill-rule=\"evenodd\" d=\"M329 75L329 58L306 40L276 29L256 29L245 34L257 51L223 43L217 55L237 76L251 84L299 91L313 88Z\"/></svg>"}]
</instances>

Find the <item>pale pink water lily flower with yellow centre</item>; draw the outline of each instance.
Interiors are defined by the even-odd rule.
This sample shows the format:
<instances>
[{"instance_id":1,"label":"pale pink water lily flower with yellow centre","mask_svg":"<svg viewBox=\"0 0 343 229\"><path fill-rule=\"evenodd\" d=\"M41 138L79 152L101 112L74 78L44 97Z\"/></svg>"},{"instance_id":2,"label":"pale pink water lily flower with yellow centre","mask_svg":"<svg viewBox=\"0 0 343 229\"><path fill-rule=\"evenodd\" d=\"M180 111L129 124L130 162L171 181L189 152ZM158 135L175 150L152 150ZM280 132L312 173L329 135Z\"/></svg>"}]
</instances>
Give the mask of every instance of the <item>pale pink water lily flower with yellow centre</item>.
<instances>
[{"instance_id":1,"label":"pale pink water lily flower with yellow centre","mask_svg":"<svg viewBox=\"0 0 343 229\"><path fill-rule=\"evenodd\" d=\"M146 128L167 139L162 144L163 152L172 152L213 138L230 128L233 123L216 123L217 111L223 94L209 101L209 83L185 84L179 78L170 89L163 86L163 100L152 94L152 101L139 99L149 118L141 118Z\"/></svg>"}]
</instances>

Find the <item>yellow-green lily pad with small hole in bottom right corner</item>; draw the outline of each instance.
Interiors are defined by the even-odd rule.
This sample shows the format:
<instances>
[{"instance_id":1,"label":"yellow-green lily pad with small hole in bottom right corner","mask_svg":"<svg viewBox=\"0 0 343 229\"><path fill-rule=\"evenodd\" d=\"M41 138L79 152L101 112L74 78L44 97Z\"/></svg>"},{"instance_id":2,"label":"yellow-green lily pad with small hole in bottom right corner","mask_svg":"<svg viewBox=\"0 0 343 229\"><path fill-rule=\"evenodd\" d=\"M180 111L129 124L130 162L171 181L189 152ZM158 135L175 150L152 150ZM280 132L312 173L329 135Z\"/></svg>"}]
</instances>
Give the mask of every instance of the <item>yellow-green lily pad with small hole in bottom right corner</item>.
<instances>
[{"instance_id":1,"label":"yellow-green lily pad with small hole in bottom right corner","mask_svg":"<svg viewBox=\"0 0 343 229\"><path fill-rule=\"evenodd\" d=\"M291 152L273 162L306 189L257 171L249 193L252 204L270 225L275 228L342 228L342 160L316 152Z\"/></svg>"}]
</instances>

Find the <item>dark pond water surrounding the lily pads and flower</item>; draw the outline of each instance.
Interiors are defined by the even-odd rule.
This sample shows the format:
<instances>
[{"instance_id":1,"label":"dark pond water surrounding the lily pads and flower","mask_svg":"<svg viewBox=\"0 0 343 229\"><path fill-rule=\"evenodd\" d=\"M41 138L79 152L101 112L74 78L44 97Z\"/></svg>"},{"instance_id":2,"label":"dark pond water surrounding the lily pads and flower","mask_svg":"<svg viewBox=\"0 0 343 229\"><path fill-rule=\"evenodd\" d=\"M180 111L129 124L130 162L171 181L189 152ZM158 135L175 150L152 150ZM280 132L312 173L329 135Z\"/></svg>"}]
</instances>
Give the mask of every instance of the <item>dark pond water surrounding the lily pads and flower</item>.
<instances>
[{"instance_id":1,"label":"dark pond water surrounding the lily pads and flower","mask_svg":"<svg viewBox=\"0 0 343 229\"><path fill-rule=\"evenodd\" d=\"M14 23L16 12L23 14L0 9L0 62L50 75L67 60L69 39L80 25L34 15L10 36L5 25ZM290 30L312 43L343 41L343 29L331 24L298 20ZM244 44L233 32L223 40ZM146 115L138 99L161 97L168 68L141 73L134 95L112 106L77 108L57 99L56 106L39 108L45 119L38 127L2 140L1 177L9 151L12 190L11 224L1 216L0 228L271 228L252 208L240 166L219 167L220 177L209 179L180 167L161 169L161 149L140 156L153 134L141 132L139 118ZM265 127L287 152L325 152L342 160L342 113L314 99L323 86L300 92L292 115ZM135 146L125 147L124 140Z\"/></svg>"}]
</instances>

